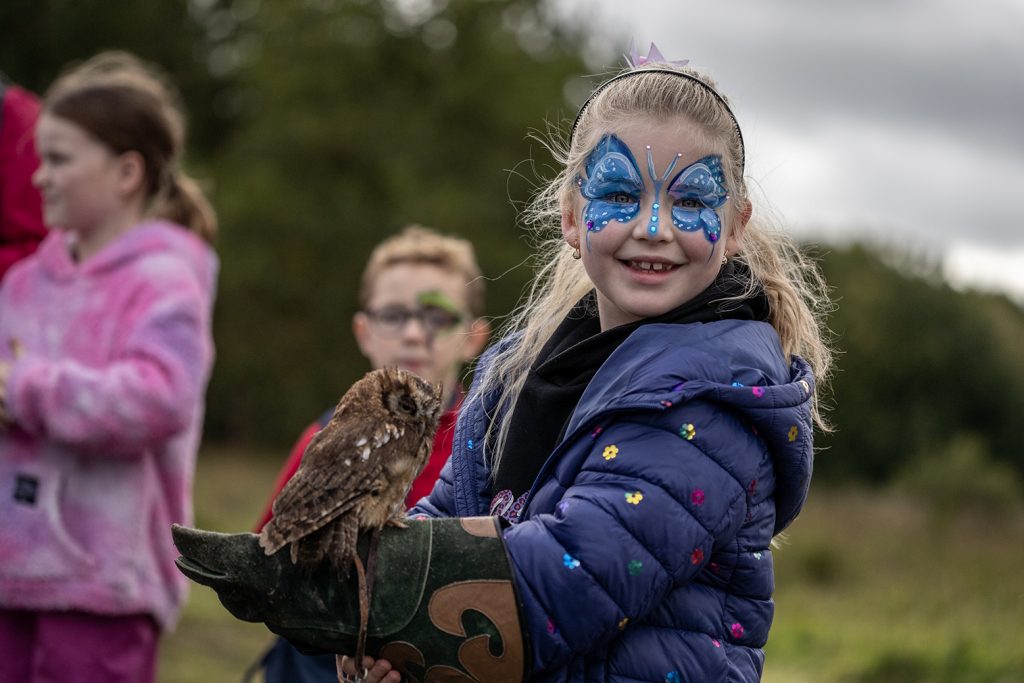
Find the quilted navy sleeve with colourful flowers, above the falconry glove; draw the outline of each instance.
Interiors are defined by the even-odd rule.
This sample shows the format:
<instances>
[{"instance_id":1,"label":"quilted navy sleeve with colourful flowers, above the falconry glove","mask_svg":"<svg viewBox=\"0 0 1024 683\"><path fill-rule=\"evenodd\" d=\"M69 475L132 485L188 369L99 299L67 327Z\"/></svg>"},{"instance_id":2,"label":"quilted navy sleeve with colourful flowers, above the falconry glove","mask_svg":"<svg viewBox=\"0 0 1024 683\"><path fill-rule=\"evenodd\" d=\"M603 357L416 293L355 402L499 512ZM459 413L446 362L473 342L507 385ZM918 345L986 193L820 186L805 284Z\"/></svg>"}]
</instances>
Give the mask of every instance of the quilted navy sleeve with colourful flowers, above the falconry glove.
<instances>
[{"instance_id":1,"label":"quilted navy sleeve with colourful flowers, above the falconry glove","mask_svg":"<svg viewBox=\"0 0 1024 683\"><path fill-rule=\"evenodd\" d=\"M748 510L744 487L697 441L638 422L608 425L563 485L553 514L505 532L535 673L649 614L735 537Z\"/></svg>"}]
</instances>

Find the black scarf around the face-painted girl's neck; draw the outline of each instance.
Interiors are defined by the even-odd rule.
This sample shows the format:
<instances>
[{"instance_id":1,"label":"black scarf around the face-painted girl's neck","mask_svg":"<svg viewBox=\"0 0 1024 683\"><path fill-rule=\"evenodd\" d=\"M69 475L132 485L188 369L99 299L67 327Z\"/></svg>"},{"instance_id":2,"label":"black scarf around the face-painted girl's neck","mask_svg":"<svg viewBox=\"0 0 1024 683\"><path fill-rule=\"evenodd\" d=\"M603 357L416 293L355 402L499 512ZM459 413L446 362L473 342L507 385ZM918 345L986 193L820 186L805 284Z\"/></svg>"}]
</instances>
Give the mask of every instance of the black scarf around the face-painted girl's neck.
<instances>
[{"instance_id":1,"label":"black scarf around the face-painted girl's neck","mask_svg":"<svg viewBox=\"0 0 1024 683\"><path fill-rule=\"evenodd\" d=\"M572 307L544 345L523 384L512 413L505 452L495 474L495 492L515 498L529 490L541 467L564 436L584 390L612 351L641 325L710 323L722 319L767 321L768 298L762 291L740 301L750 271L729 261L708 289L656 317L601 332L594 292Z\"/></svg>"}]
</instances>

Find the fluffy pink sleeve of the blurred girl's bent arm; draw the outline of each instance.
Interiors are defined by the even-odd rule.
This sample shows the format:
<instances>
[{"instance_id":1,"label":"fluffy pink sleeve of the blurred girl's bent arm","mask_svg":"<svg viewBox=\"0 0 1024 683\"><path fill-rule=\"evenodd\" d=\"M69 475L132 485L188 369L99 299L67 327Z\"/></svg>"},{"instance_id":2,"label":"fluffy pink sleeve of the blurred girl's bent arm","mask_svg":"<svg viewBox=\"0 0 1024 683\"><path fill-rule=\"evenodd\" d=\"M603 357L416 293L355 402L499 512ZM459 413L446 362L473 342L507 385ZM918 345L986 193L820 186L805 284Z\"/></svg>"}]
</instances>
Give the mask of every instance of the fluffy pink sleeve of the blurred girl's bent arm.
<instances>
[{"instance_id":1,"label":"fluffy pink sleeve of the blurred girl's bent arm","mask_svg":"<svg viewBox=\"0 0 1024 683\"><path fill-rule=\"evenodd\" d=\"M8 384L15 421L84 454L131 457L158 446L202 410L213 356L210 307L193 279L154 282L120 314L106 365L27 349Z\"/></svg>"}]
</instances>

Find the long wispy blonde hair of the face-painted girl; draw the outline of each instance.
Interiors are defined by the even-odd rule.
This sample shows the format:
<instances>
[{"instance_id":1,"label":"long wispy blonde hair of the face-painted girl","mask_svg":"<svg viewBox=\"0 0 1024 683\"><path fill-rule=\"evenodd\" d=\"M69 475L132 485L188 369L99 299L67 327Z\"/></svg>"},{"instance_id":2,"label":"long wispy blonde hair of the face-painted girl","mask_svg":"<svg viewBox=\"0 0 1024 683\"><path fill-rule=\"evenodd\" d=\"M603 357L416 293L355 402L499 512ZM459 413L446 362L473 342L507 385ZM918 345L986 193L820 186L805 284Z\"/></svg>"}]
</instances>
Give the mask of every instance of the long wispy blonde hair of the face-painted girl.
<instances>
[{"instance_id":1,"label":"long wispy blonde hair of the face-painted girl","mask_svg":"<svg viewBox=\"0 0 1024 683\"><path fill-rule=\"evenodd\" d=\"M480 393L501 392L500 418L492 423L487 438L488 443L494 443L489 454L492 471L497 471L519 392L541 348L572 306L594 288L583 262L567 257L560 226L562 211L571 206L579 191L575 178L583 175L587 156L598 138L609 127L637 117L662 121L682 118L695 125L710 151L722 158L731 200L723 207L725 222L734 224L751 205L743 177L742 140L727 100L715 89L714 81L692 69L668 63L649 67L657 71L639 70L598 88L584 105L569 139L549 131L550 139L541 140L562 168L534 197L523 216L526 227L534 232L539 266L522 303L503 330L503 336L516 335L515 342L496 354L487 376L481 379ZM682 72L688 78L665 70ZM830 302L816 265L777 229L766 211L752 214L741 251L732 258L744 263L751 273L746 291L738 298L764 290L770 303L769 322L778 332L782 351L786 357L804 357L814 371L818 388L822 387L831 368L833 352L823 327ZM816 396L812 410L818 426L827 429Z\"/></svg>"}]
</instances>

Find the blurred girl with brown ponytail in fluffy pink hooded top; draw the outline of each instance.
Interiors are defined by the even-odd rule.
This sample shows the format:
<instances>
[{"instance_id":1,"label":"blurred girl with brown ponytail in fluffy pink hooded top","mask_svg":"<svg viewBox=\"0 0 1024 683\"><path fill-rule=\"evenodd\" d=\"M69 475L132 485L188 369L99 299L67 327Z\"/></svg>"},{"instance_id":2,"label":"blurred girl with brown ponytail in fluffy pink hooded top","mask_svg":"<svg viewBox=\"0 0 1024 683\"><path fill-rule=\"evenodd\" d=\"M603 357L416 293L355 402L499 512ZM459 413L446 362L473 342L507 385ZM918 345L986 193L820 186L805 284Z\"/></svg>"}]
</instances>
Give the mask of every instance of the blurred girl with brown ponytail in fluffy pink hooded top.
<instances>
[{"instance_id":1,"label":"blurred girl with brown ponytail in fluffy pink hooded top","mask_svg":"<svg viewBox=\"0 0 1024 683\"><path fill-rule=\"evenodd\" d=\"M128 54L46 95L51 232L0 289L0 681L153 681L182 604L168 529L191 518L217 273L183 137Z\"/></svg>"}]
</instances>

